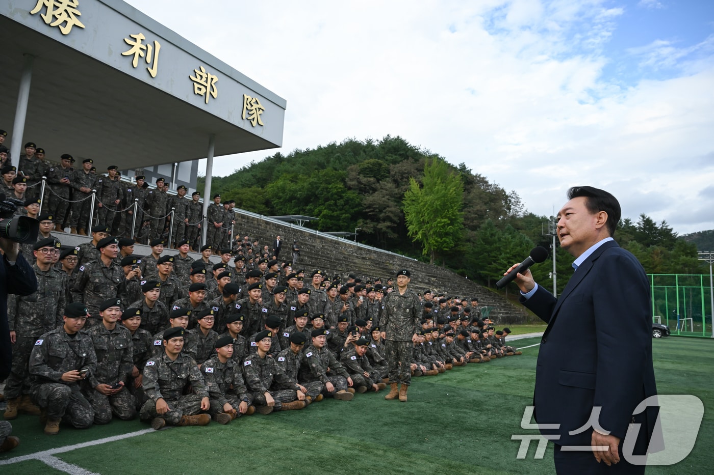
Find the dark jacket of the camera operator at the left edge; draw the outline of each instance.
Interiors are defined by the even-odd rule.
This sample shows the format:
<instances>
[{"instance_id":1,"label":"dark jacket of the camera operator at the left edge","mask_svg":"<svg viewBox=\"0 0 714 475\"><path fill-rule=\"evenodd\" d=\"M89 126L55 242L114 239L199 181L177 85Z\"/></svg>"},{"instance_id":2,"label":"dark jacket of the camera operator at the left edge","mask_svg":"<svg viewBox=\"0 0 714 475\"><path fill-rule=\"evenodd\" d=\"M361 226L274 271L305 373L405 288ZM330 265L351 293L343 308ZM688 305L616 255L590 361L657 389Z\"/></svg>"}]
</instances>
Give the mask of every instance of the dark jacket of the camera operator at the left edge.
<instances>
[{"instance_id":1,"label":"dark jacket of the camera operator at the left edge","mask_svg":"<svg viewBox=\"0 0 714 475\"><path fill-rule=\"evenodd\" d=\"M4 255L0 257L0 381L8 377L12 367L12 344L10 327L7 323L7 295L30 295L36 291L35 271L22 253L17 255L15 265L12 266L8 264Z\"/></svg>"}]
</instances>

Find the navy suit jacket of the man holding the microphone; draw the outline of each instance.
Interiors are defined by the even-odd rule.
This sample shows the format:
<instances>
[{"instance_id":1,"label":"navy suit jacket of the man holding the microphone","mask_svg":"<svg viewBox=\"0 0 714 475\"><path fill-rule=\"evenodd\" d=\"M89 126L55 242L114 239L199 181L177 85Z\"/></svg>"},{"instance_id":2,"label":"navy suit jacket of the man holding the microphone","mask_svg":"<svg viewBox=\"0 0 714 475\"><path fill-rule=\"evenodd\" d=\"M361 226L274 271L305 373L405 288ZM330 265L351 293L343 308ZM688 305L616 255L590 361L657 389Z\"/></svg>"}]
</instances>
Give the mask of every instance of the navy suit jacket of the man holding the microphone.
<instances>
[{"instance_id":1,"label":"navy suit jacket of the man holding the microphone","mask_svg":"<svg viewBox=\"0 0 714 475\"><path fill-rule=\"evenodd\" d=\"M635 407L657 392L650 285L640 262L616 242L605 242L575 270L560 298L538 286L521 302L548 323L533 404L538 424L560 427L541 427L541 433L560 435L555 444L589 446L588 422L593 407L601 407L593 421L623 439ZM634 417L647 440L656 416L653 407Z\"/></svg>"}]
</instances>

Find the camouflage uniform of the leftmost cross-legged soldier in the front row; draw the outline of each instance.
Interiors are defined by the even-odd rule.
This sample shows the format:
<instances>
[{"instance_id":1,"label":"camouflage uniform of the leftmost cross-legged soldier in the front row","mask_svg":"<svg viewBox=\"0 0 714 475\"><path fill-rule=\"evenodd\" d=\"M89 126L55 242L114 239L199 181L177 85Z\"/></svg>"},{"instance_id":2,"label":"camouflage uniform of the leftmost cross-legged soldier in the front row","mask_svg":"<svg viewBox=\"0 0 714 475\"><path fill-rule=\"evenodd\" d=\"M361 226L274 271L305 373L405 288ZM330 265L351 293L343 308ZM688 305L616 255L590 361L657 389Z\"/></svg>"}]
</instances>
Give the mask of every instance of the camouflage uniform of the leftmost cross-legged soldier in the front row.
<instances>
[{"instance_id":1,"label":"camouflage uniform of the leftmost cross-legged soldier in the front row","mask_svg":"<svg viewBox=\"0 0 714 475\"><path fill-rule=\"evenodd\" d=\"M193 393L183 394L183 388L189 382ZM139 418L143 421L159 417L176 425L181 422L181 417L201 412L201 399L208 397L201 372L193 359L183 352L179 353L175 360L169 358L166 352L150 358L144 366L142 387L149 398L139 412ZM169 404L169 412L156 412L156 402L159 399L164 399L166 404Z\"/></svg>"}]
</instances>

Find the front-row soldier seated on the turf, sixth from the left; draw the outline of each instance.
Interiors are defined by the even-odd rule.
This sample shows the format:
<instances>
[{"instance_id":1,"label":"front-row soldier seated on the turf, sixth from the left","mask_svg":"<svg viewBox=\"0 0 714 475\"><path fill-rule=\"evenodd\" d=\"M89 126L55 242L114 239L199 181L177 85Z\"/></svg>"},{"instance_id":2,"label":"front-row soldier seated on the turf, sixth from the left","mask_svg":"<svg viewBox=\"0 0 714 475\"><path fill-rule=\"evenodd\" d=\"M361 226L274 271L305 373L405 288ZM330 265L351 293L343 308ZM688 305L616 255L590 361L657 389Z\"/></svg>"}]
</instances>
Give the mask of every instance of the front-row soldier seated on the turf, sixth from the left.
<instances>
[{"instance_id":1,"label":"front-row soldier seated on the turf, sixth from the left","mask_svg":"<svg viewBox=\"0 0 714 475\"><path fill-rule=\"evenodd\" d=\"M312 344L303 349L305 358L301 360L298 378L305 382L321 382L322 394L325 397L350 401L354 389L349 388L351 391L348 391L348 386L352 386L352 378L335 355L327 349L327 334L328 330L324 328L311 332Z\"/></svg>"}]
</instances>

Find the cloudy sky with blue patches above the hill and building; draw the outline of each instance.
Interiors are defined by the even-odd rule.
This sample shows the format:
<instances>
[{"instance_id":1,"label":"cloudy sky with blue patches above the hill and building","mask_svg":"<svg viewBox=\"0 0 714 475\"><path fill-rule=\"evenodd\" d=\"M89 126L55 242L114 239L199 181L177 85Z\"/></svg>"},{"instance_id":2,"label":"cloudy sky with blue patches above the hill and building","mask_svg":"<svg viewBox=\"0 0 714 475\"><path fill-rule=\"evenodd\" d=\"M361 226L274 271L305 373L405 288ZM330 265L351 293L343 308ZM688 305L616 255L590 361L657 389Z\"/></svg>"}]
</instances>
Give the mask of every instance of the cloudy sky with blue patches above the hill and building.
<instances>
[{"instance_id":1,"label":"cloudy sky with blue patches above the hill and building","mask_svg":"<svg viewBox=\"0 0 714 475\"><path fill-rule=\"evenodd\" d=\"M286 98L282 153L391 134L533 213L588 184L714 229L714 1L128 3Z\"/></svg>"}]
</instances>

